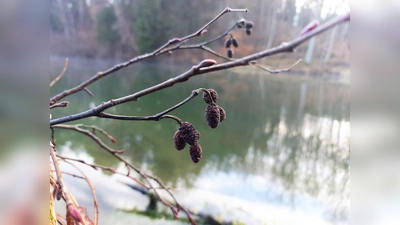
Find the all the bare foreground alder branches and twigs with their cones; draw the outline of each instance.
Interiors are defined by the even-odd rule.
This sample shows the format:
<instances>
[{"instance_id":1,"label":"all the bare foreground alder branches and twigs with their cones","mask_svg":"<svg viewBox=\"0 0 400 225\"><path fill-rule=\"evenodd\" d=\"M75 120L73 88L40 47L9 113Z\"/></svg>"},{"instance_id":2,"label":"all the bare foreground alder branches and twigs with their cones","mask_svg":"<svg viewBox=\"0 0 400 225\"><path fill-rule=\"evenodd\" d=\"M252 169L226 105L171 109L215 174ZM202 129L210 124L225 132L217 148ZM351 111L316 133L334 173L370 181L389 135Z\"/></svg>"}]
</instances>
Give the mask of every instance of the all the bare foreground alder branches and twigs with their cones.
<instances>
[{"instance_id":1,"label":"all the bare foreground alder branches and twigs with their cones","mask_svg":"<svg viewBox=\"0 0 400 225\"><path fill-rule=\"evenodd\" d=\"M181 38L173 38L167 41L164 45L160 46L158 49L154 50L153 52L140 55L137 57L134 57L126 62L117 64L105 71L98 72L95 74L93 77L90 79L84 81L83 83L77 85L76 87L73 87L71 89L65 90L55 96L53 96L50 99L50 109L56 108L56 107L67 107L68 102L67 101L62 101L63 98L72 95L74 93L77 93L79 91L85 91L91 96L94 96L94 94L88 89L88 86L97 80L110 75L120 69L123 69L127 66L130 66L134 63L140 62L145 59L149 59L152 57L157 57L161 54L169 53L172 51L177 51L177 50L185 50L185 49L200 49L203 51L206 51L213 56L217 56L221 59L224 59L226 62L224 63L217 63L213 59L205 59L198 63L197 65L192 66L190 69L188 69L186 72L168 79L164 82L161 82L159 84L156 84L152 87L140 90L136 93L132 93L127 96L123 96L117 99L111 99L106 102L103 102L102 104L84 111L80 112L74 115L68 115L60 118L55 118L52 119L50 115L50 128L52 130L52 137L51 137L51 143L50 143L50 155L51 155L51 163L53 165L53 169L50 170L50 185L53 187L53 194L51 195L54 198L50 199L50 205L52 205L52 201L54 199L60 200L63 199L66 202L66 207L67 207L67 214L65 218L62 218L60 215L55 215L54 217L57 217L57 221L59 224L72 224L72 222L76 222L79 224L98 224L98 215L99 215L99 210L98 210L98 203L96 199L96 192L93 184L90 182L89 178L81 171L74 163L81 163L85 164L87 166L90 166L94 169L102 169L102 170L107 170L112 173L116 174L121 174L124 176L127 176L140 184L143 188L146 189L146 191L152 191L154 192L156 198L162 202L165 206L169 207L173 213L173 215L178 218L179 211L182 210L188 220L190 221L191 224L196 224L192 214L185 209L175 198L175 196L172 193L172 189L164 185L157 177L151 176L142 170L138 169L135 167L133 164L125 160L124 158L121 157L121 154L124 152L123 149L113 149L109 147L107 144L105 144L101 138L98 136L98 133L100 133L102 136L105 138L109 139L111 142L116 142L116 139L113 138L111 135L109 135L106 131L104 131L101 128L98 128L96 126L91 126L91 125L84 125L84 124L76 124L76 125L66 125L63 123L66 122L71 122L71 121L76 121L80 120L83 118L88 118L88 117L99 117L99 118L105 118L105 119L114 119L114 120L133 120L133 121L159 121L161 119L173 119L175 120L179 125L180 128L178 131L175 132L173 140L174 140L174 146L177 150L182 150L185 148L186 144L190 145L189 153L191 156L191 159L193 162L198 163L202 157L202 148L200 147L198 140L200 138L200 132L198 132L192 124L189 122L182 122L182 120L174 115L170 115L169 113L174 111L175 109L183 106L185 103L188 101L192 100L194 97L200 94L200 92L203 92L203 99L207 104L207 107L205 109L205 118L207 121L207 124L211 128L216 128L220 122L224 121L226 119L226 112L225 110L218 106L216 104L218 100L218 93L213 90L213 89L205 89L205 88L199 88L196 90L193 90L192 93L185 99L183 99L181 102L177 103L174 106L171 106L170 108L159 112L155 115L151 116L134 116L134 115L117 115L117 114L111 114L105 112L107 109L110 109L116 105L120 105L123 103L127 102L132 102L132 101L137 101L139 100L140 97L154 93L156 91L171 87L177 83L180 82L185 82L188 79L190 79L193 76L200 75L200 74L205 74L205 73L210 73L213 71L219 71L219 70L225 70L228 68L233 68L233 67L238 67L238 66L255 66L257 68L260 68L262 70L265 70L270 73L280 73L280 72L285 72L291 70L294 66L296 66L298 63L301 62L301 60L298 60L296 63L294 63L292 66L286 68L286 69L276 69L276 70L271 70L268 69L264 66L257 65L256 60L264 57L268 57L270 55L278 54L278 53L284 53L284 52L293 52L294 49L300 45L301 43L304 43L311 37L318 35L340 23L346 22L350 20L350 14L346 14L340 17L337 17L335 19L332 19L331 21L328 21L327 23L321 25L321 26L313 26L312 29L308 29L307 32L303 32L299 37L296 39L287 42L287 43L282 43L281 45L263 50L251 55L248 55L243 58L239 59L232 59L233 57L233 50L232 46L237 48L239 47L239 44L237 40L233 37L231 34L231 31L235 28L238 29L244 29L246 34L250 35L253 29L253 23L250 21L246 21L244 19L241 19L237 21L233 26L231 26L229 29L227 29L225 32L220 34L217 37L214 37L208 41L198 43L198 44L186 44L189 40L206 35L207 29L215 22L217 21L221 16L223 16L226 13L230 12L247 12L247 9L231 9L231 8L225 8L221 13L219 13L216 17L214 17L212 20L210 20L207 24L205 24L203 27L198 29L196 32L189 34L187 36L181 37ZM227 49L227 56L225 57L218 52L214 51L213 49L207 47L206 45L218 41L220 39L223 39L224 37L229 36L228 39L225 42L225 47ZM64 68L60 75L58 75L51 83L50 87L54 85L65 73L68 65L68 59L65 61ZM90 137L93 141L95 141L103 150L107 151L110 153L113 157L117 158L119 161L123 162L127 169L127 173L122 173L118 172L113 168L110 167L105 167L101 165L96 165L96 164L90 164L87 163L83 160L80 159L73 159L73 158L68 158L65 156L61 155L56 155L56 140L54 137L54 130L55 129L66 129L66 130L71 130L75 132L79 132L81 134L84 134L88 137ZM81 173L82 176L76 175L76 174L70 174L70 173L65 173L60 170L59 167L59 161L65 162L68 164L71 164L76 167L76 169ZM73 163L74 162L74 163ZM140 181L136 177L134 177L131 174L131 170L134 171L136 174L138 174L144 182ZM55 174L55 177L54 177ZM71 175L79 179L84 179L87 181L92 194L93 194L93 204L95 208L95 214L94 214L94 223L90 220L88 215L85 212L85 208L82 206L79 206L76 200L73 198L72 194L67 191L67 188L65 186L65 183L62 178L62 174L64 175ZM156 184L156 185L154 185ZM160 196L157 190L162 189L165 190L168 195L173 199L173 202L166 201L164 198ZM52 211L53 210L53 211ZM54 213L54 208L51 208L51 215Z\"/></svg>"}]
</instances>

